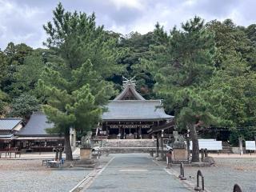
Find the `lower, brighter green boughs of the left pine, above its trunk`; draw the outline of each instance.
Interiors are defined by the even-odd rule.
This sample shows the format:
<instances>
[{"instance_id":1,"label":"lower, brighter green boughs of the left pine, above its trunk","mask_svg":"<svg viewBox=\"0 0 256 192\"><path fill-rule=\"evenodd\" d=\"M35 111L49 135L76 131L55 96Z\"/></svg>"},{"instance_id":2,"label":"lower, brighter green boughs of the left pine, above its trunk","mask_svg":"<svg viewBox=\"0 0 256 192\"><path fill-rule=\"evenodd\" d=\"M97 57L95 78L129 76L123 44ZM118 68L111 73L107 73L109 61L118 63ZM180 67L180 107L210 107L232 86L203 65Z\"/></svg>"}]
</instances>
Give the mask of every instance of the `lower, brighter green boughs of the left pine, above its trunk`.
<instances>
[{"instance_id":1,"label":"lower, brighter green boughs of the left pine, above its trunk","mask_svg":"<svg viewBox=\"0 0 256 192\"><path fill-rule=\"evenodd\" d=\"M55 133L66 134L70 127L90 130L100 121L103 106L114 90L102 81L88 60L77 70L70 70L67 79L63 71L46 68L39 87L47 96L44 106L50 121L55 124ZM91 85L91 86L90 86Z\"/></svg>"}]
</instances>

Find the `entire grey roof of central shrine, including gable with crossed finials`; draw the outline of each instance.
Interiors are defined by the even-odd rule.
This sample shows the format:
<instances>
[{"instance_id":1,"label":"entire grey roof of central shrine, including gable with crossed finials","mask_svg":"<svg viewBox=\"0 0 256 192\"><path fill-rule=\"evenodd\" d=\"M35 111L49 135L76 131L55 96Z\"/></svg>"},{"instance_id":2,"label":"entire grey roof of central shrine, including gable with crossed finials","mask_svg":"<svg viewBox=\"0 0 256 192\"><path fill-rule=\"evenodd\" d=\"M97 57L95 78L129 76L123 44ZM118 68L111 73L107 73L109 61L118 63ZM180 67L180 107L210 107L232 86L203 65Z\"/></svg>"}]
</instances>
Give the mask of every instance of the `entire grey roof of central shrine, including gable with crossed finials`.
<instances>
[{"instance_id":1,"label":"entire grey roof of central shrine, including gable with crossed finials","mask_svg":"<svg viewBox=\"0 0 256 192\"><path fill-rule=\"evenodd\" d=\"M124 77L123 77L124 78ZM123 90L106 106L102 121L158 121L174 116L166 114L161 100L146 100L135 90L134 78L123 81Z\"/></svg>"}]
</instances>

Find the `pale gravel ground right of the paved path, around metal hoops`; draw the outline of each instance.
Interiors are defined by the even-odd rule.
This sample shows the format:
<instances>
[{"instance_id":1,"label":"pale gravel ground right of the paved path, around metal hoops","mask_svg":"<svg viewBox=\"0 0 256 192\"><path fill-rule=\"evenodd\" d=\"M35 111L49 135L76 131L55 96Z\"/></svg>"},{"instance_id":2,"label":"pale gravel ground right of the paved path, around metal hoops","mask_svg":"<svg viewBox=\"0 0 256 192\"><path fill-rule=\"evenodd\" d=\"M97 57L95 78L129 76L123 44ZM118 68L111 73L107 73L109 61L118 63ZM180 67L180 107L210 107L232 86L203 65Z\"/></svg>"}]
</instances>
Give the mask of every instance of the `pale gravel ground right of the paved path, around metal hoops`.
<instances>
[{"instance_id":1,"label":"pale gravel ground right of the paved path, around metal hoops","mask_svg":"<svg viewBox=\"0 0 256 192\"><path fill-rule=\"evenodd\" d=\"M231 192L237 183L243 192L256 191L256 158L214 158L217 166L185 167L185 176L196 183L198 170L205 177L206 189L212 192ZM179 167L173 167L179 172ZM193 178L190 178L192 176Z\"/></svg>"}]
</instances>

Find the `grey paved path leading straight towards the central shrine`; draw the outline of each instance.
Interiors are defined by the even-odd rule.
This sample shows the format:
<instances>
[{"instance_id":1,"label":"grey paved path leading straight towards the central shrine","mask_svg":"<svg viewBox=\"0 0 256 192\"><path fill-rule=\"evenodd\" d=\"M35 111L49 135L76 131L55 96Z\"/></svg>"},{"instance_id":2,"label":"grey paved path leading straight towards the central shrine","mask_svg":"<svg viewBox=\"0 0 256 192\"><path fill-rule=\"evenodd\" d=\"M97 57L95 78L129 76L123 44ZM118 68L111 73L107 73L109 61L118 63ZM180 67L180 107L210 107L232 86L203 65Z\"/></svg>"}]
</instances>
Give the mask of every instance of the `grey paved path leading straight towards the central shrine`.
<instances>
[{"instance_id":1,"label":"grey paved path leading straight towards the central shrine","mask_svg":"<svg viewBox=\"0 0 256 192\"><path fill-rule=\"evenodd\" d=\"M167 174L148 154L114 154L114 159L84 191L173 191L186 192L186 186Z\"/></svg>"}]
</instances>

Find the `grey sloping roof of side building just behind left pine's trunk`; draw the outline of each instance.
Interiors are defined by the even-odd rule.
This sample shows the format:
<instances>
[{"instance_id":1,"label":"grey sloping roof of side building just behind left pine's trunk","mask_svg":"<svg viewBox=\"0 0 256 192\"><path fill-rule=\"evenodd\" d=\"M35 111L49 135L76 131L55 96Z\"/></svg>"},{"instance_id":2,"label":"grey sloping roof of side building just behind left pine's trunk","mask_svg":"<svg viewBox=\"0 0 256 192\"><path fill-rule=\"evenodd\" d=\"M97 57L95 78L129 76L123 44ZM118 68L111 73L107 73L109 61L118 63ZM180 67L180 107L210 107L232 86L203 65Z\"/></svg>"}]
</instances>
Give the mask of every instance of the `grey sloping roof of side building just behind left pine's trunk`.
<instances>
[{"instance_id":1,"label":"grey sloping roof of side building just behind left pine's trunk","mask_svg":"<svg viewBox=\"0 0 256 192\"><path fill-rule=\"evenodd\" d=\"M35 112L30 116L29 122L26 126L18 132L18 136L51 136L47 134L47 128L53 128L54 123L48 122L46 115L42 112Z\"/></svg>"}]
</instances>

